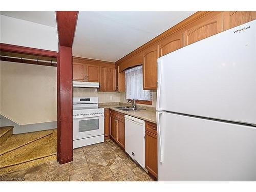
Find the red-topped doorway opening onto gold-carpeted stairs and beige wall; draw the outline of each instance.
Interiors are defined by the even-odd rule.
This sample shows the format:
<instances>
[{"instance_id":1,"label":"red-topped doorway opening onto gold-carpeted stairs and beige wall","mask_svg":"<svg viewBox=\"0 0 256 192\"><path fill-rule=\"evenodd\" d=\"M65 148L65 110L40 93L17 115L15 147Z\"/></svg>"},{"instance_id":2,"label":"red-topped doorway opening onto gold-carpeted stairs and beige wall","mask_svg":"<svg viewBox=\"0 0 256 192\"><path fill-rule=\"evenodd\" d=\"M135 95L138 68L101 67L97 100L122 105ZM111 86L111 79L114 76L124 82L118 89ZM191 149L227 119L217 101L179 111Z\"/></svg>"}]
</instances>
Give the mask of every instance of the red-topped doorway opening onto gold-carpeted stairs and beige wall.
<instances>
[{"instance_id":1,"label":"red-topped doorway opening onto gold-carpeted stairs and beige wall","mask_svg":"<svg viewBox=\"0 0 256 192\"><path fill-rule=\"evenodd\" d=\"M1 44L0 174L57 160L57 56Z\"/></svg>"}]
</instances>

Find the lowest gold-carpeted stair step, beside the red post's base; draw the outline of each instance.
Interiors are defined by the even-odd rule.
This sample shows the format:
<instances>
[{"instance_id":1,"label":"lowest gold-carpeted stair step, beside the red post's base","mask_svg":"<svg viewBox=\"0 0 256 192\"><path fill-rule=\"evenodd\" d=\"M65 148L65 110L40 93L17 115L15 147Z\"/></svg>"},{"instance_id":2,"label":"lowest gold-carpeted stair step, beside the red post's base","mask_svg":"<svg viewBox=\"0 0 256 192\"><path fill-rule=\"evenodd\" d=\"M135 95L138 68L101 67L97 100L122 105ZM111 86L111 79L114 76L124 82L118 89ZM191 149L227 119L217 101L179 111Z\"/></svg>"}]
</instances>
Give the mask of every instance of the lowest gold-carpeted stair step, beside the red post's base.
<instances>
[{"instance_id":1,"label":"lowest gold-carpeted stair step, beside the red post's base","mask_svg":"<svg viewBox=\"0 0 256 192\"><path fill-rule=\"evenodd\" d=\"M28 148L22 154L17 154L13 158L1 159L0 174L13 172L14 170L27 168L44 162L56 159L57 139L52 139L47 143L36 147ZM0 156L1 157L1 156Z\"/></svg>"}]
</instances>

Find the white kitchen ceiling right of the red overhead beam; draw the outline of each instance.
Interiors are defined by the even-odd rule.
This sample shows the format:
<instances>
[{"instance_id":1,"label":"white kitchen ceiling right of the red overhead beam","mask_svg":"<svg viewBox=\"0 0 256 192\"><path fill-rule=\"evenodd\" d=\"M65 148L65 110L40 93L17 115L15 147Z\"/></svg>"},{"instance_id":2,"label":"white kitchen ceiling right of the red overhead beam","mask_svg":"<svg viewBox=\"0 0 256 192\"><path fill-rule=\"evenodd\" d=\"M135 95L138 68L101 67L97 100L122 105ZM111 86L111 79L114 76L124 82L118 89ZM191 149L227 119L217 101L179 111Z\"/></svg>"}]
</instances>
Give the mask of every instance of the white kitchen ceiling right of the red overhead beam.
<instances>
[{"instance_id":1,"label":"white kitchen ceiling right of the red overhead beam","mask_svg":"<svg viewBox=\"0 0 256 192\"><path fill-rule=\"evenodd\" d=\"M79 11L73 55L115 62L192 11Z\"/></svg>"}]
</instances>

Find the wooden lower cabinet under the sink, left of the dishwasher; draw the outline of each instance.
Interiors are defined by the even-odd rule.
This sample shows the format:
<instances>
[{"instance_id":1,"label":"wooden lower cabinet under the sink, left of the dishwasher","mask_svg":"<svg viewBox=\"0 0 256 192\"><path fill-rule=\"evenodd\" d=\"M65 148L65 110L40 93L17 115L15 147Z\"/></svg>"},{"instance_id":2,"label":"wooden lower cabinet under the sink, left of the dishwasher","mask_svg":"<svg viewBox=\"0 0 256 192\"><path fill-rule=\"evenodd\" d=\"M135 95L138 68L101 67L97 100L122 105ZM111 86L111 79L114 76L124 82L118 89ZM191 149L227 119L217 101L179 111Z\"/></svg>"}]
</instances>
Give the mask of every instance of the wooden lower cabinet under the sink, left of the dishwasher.
<instances>
[{"instance_id":1,"label":"wooden lower cabinet under the sink, left of the dishwasher","mask_svg":"<svg viewBox=\"0 0 256 192\"><path fill-rule=\"evenodd\" d=\"M110 136L125 149L124 114L110 110Z\"/></svg>"}]
</instances>

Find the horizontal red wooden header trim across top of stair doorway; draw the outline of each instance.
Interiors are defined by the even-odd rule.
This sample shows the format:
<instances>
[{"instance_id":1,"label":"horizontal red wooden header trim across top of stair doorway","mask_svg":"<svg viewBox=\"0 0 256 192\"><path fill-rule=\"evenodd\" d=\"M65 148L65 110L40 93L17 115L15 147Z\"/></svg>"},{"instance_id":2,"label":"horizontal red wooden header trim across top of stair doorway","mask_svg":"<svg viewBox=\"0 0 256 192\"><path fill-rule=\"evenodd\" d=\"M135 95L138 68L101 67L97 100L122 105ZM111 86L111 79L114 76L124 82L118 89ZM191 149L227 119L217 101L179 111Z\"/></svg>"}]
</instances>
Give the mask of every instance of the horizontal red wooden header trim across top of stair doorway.
<instances>
[{"instance_id":1,"label":"horizontal red wooden header trim across top of stair doorway","mask_svg":"<svg viewBox=\"0 0 256 192\"><path fill-rule=\"evenodd\" d=\"M23 46L16 46L10 44L3 44L0 43L0 50L12 53L24 53L30 55L37 55L37 56L47 56L47 57L57 57L58 52L56 51L49 51L44 49L36 49L31 47L23 47Z\"/></svg>"}]
</instances>

